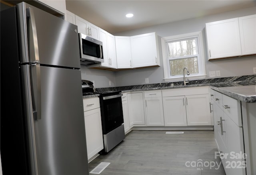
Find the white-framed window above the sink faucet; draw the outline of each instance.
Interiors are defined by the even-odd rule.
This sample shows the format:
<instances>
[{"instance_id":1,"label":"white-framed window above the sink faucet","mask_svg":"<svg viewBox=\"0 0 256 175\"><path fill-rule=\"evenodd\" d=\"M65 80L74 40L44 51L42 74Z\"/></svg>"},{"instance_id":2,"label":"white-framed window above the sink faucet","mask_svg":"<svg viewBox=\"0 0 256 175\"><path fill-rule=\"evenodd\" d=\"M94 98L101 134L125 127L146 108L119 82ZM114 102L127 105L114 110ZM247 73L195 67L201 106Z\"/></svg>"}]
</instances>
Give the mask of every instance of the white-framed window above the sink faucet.
<instances>
[{"instance_id":1,"label":"white-framed window above the sink faucet","mask_svg":"<svg viewBox=\"0 0 256 175\"><path fill-rule=\"evenodd\" d=\"M162 52L164 79L166 81L183 80L183 69L188 68L189 79L205 78L202 33L187 33L163 37Z\"/></svg>"}]
</instances>

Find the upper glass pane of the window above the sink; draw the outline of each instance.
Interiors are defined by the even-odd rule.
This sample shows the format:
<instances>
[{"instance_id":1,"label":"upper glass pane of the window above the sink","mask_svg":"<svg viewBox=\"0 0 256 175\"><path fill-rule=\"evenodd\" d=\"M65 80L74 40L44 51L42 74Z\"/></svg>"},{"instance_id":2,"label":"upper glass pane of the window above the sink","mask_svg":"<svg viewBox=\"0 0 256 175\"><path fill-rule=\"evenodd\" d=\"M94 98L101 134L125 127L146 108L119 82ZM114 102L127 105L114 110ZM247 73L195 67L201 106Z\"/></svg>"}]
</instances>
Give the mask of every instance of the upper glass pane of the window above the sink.
<instances>
[{"instance_id":1,"label":"upper glass pane of the window above the sink","mask_svg":"<svg viewBox=\"0 0 256 175\"><path fill-rule=\"evenodd\" d=\"M197 55L196 39L175 41L168 43L169 57L182 57L186 55Z\"/></svg>"}]
</instances>

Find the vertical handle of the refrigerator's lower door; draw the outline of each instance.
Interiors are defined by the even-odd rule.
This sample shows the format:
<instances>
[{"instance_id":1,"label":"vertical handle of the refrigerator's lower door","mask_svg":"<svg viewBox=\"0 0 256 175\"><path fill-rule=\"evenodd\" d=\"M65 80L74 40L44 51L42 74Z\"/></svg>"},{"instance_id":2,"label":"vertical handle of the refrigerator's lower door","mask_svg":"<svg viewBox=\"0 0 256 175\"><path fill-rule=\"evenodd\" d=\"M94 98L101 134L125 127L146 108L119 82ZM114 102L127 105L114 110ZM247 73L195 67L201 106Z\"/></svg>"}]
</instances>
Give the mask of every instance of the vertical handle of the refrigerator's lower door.
<instances>
[{"instance_id":1,"label":"vertical handle of the refrigerator's lower door","mask_svg":"<svg viewBox=\"0 0 256 175\"><path fill-rule=\"evenodd\" d=\"M40 65L33 64L30 66L30 79L32 91L32 108L34 120L41 119L41 76Z\"/></svg>"}]
</instances>

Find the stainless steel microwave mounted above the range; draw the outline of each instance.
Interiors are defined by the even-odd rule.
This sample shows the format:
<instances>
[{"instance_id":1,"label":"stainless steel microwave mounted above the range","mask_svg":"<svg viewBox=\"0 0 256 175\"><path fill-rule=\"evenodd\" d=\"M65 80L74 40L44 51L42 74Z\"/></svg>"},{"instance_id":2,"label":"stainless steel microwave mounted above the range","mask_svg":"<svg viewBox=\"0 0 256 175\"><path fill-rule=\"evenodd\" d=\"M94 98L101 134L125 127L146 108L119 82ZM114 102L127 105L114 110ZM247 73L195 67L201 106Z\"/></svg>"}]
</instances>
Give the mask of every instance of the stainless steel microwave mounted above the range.
<instances>
[{"instance_id":1,"label":"stainless steel microwave mounted above the range","mask_svg":"<svg viewBox=\"0 0 256 175\"><path fill-rule=\"evenodd\" d=\"M91 65L104 62L102 42L78 33L80 45L80 64Z\"/></svg>"}]
</instances>

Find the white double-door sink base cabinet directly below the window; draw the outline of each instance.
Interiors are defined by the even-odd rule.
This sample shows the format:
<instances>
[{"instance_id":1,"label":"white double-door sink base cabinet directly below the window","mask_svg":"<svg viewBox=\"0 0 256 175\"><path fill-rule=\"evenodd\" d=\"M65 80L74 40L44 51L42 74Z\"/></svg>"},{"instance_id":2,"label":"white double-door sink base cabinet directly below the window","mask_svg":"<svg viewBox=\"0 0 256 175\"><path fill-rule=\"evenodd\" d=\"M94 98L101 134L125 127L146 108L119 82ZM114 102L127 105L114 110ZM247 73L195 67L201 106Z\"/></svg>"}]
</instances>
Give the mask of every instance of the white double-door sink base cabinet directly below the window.
<instances>
[{"instance_id":1,"label":"white double-door sink base cabinet directly below the window","mask_svg":"<svg viewBox=\"0 0 256 175\"><path fill-rule=\"evenodd\" d=\"M162 90L162 95L165 126L212 125L208 87Z\"/></svg>"}]
</instances>

